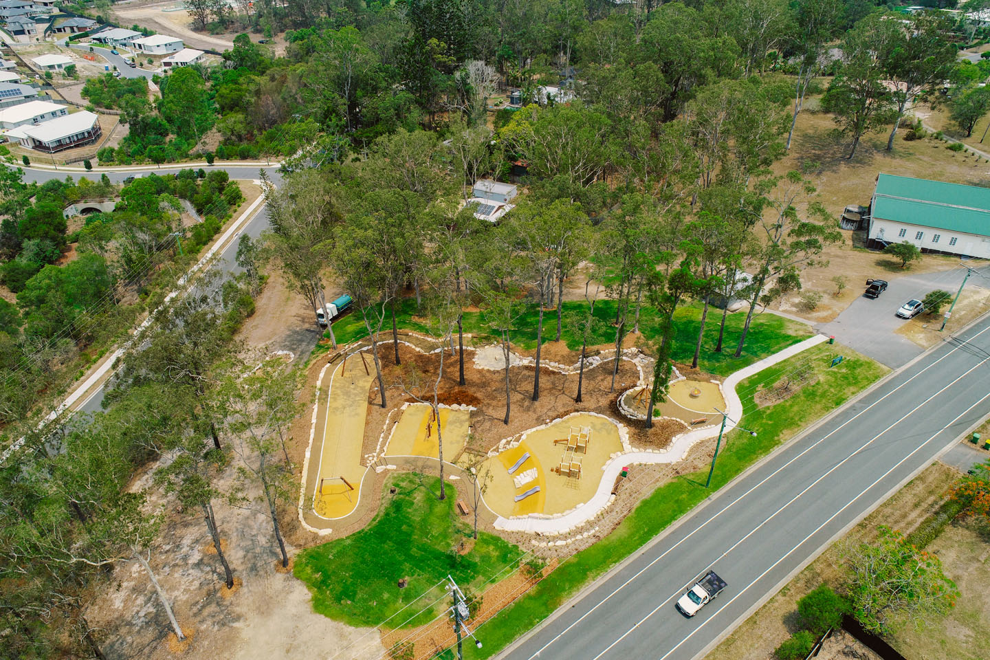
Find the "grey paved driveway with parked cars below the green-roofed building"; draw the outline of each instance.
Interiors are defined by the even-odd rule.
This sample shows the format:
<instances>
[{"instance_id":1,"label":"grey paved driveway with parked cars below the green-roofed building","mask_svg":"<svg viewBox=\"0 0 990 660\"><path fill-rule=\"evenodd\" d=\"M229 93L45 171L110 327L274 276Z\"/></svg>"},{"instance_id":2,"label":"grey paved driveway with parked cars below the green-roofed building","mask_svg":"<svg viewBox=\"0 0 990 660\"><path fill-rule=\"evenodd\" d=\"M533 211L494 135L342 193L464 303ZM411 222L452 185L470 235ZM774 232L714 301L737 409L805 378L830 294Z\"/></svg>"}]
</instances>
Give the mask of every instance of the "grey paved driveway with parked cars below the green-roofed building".
<instances>
[{"instance_id":1,"label":"grey paved driveway with parked cars below the green-roofed building","mask_svg":"<svg viewBox=\"0 0 990 660\"><path fill-rule=\"evenodd\" d=\"M982 266L977 272L990 275L990 266ZM879 298L870 300L860 296L835 321L816 326L815 330L835 335L846 346L896 369L925 350L914 341L894 332L907 323L896 316L898 308L912 298L924 299L925 294L935 289L948 291L954 296L965 274L965 268L953 268L937 273L898 277L890 280L887 290ZM967 288L970 283L985 284L975 273L969 278ZM865 291L865 282L856 285L862 286Z\"/></svg>"}]
</instances>

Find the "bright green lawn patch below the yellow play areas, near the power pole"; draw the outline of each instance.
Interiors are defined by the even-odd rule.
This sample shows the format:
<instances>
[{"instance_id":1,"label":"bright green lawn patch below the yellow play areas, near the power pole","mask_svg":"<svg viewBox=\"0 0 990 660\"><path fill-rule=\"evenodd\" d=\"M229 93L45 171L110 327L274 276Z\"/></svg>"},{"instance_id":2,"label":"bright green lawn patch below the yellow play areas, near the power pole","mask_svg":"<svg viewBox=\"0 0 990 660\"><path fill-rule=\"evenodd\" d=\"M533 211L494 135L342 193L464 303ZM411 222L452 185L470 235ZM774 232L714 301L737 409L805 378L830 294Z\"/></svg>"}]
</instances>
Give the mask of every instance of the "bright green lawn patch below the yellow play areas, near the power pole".
<instances>
[{"instance_id":1,"label":"bright green lawn patch below the yellow play areas, near the power pole","mask_svg":"<svg viewBox=\"0 0 990 660\"><path fill-rule=\"evenodd\" d=\"M395 495L388 487L397 489ZM516 561L520 549L481 532L464 555L461 541L471 542L471 526L454 511L456 491L437 499L440 479L400 474L386 482L383 505L368 526L346 538L307 548L295 562L295 575L313 594L313 609L349 625L377 625L397 613L438 581L451 575L461 589L478 587L503 566ZM398 588L401 578L409 586ZM396 618L409 618L443 591ZM437 607L446 604L446 600ZM447 604L448 605L448 604ZM426 623L438 612L428 610L410 621Z\"/></svg>"}]
</instances>

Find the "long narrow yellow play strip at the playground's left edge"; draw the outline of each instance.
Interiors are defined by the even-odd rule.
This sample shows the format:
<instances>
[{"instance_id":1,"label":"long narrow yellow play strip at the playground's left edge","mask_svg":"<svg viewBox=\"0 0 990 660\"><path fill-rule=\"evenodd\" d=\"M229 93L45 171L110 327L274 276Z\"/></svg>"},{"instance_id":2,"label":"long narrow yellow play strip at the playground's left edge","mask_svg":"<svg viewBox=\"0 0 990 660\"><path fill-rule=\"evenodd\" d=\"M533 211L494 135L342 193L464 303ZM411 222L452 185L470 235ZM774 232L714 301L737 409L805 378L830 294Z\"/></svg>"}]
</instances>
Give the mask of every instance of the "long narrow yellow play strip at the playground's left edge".
<instances>
[{"instance_id":1,"label":"long narrow yellow play strip at the playground's left edge","mask_svg":"<svg viewBox=\"0 0 990 660\"><path fill-rule=\"evenodd\" d=\"M360 357L351 356L347 366L341 364L334 370L328 386L327 421L323 428L320 472L313 501L314 511L324 518L343 518L357 506L366 469L361 465L361 444L368 388L375 379L374 370L369 371L369 374L364 373ZM339 477L347 479L353 490Z\"/></svg>"}]
</instances>

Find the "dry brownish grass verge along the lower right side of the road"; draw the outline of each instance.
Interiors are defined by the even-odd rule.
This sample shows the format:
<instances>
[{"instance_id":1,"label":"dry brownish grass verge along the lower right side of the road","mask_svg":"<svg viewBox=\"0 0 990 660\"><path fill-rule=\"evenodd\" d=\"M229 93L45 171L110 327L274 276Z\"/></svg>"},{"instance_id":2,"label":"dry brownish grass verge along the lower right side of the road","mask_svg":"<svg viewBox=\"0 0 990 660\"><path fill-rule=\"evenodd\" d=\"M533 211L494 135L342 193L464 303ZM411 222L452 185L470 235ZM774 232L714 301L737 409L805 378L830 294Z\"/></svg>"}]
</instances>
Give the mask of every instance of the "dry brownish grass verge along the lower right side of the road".
<instances>
[{"instance_id":1,"label":"dry brownish grass verge along the lower right side of the road","mask_svg":"<svg viewBox=\"0 0 990 660\"><path fill-rule=\"evenodd\" d=\"M756 613L708 654L708 660L771 660L773 649L799 630L797 602L822 583L838 587L841 578L840 550L842 543L859 543L876 537L878 525L910 533L922 520L935 512L948 487L958 478L952 468L934 463L895 493L876 511L853 527L841 540L806 569L794 577ZM903 651L904 649L902 649ZM819 656L822 657L822 656ZM827 655L827 658L844 657ZM854 656L853 656L854 657ZM869 656L863 656L869 657ZM909 656L912 657L912 656ZM914 656L921 658L923 656ZM929 658L962 657L952 655L925 656Z\"/></svg>"}]
</instances>

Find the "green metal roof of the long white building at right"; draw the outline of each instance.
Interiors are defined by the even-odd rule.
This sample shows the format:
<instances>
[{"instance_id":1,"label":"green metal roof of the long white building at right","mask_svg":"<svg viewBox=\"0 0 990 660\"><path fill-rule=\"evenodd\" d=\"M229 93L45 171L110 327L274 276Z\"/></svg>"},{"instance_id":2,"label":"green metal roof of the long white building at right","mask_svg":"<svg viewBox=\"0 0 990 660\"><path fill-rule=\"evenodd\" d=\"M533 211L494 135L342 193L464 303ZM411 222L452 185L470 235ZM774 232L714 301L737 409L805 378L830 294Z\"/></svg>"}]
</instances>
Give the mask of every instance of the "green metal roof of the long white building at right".
<instances>
[{"instance_id":1,"label":"green metal roof of the long white building at right","mask_svg":"<svg viewBox=\"0 0 990 660\"><path fill-rule=\"evenodd\" d=\"M990 236L990 189L880 174L871 214L881 220Z\"/></svg>"}]
</instances>

